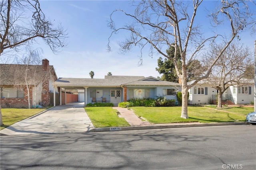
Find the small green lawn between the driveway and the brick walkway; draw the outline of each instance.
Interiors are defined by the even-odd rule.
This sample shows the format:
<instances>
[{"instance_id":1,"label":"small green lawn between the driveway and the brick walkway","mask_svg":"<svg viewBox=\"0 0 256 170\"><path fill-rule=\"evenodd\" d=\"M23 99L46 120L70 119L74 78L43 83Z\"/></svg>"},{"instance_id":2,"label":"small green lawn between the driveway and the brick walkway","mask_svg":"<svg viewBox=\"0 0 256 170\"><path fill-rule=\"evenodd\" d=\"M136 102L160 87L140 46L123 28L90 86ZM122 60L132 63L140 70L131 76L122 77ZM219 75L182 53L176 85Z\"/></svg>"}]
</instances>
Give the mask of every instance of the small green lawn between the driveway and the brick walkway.
<instances>
[{"instance_id":1,"label":"small green lawn between the driveway and the brick walkway","mask_svg":"<svg viewBox=\"0 0 256 170\"><path fill-rule=\"evenodd\" d=\"M95 127L124 127L130 126L122 117L118 117L117 110L112 107L84 108Z\"/></svg>"}]
</instances>

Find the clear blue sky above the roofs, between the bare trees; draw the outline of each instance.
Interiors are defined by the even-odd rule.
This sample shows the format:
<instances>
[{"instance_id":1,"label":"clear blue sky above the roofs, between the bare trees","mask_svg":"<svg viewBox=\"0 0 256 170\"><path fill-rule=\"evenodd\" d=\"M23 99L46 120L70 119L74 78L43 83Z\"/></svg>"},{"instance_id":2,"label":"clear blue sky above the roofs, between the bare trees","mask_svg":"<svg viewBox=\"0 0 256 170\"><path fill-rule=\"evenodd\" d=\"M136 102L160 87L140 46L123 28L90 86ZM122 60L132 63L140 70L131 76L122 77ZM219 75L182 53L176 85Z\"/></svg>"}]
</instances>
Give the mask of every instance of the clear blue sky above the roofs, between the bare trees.
<instances>
[{"instance_id":1,"label":"clear blue sky above the roofs, between the bare trees","mask_svg":"<svg viewBox=\"0 0 256 170\"><path fill-rule=\"evenodd\" d=\"M115 9L132 12L130 1L87 1L87 0L42 0L40 6L44 14L51 20L61 22L67 29L69 42L68 47L54 55L50 48L43 42L38 41L44 51L43 58L50 61L54 66L58 77L90 78L89 72L94 71L94 78L104 78L108 72L113 75L126 76L160 76L155 70L157 59L160 55L149 57L143 55L143 65L138 66L140 52L138 49L125 54L120 54L116 41L124 39L122 33L111 39L112 52L107 52L108 37L111 30L107 27L107 20ZM206 6L210 1L205 2ZM200 10L200 15L205 11ZM200 20L200 18L199 18ZM127 20L116 16L116 23L124 25ZM202 22L206 22L202 20ZM202 24L202 23L201 23ZM211 32L210 29L204 31ZM253 50L255 35L247 33L242 41ZM36 45L37 46L37 45Z\"/></svg>"}]
</instances>

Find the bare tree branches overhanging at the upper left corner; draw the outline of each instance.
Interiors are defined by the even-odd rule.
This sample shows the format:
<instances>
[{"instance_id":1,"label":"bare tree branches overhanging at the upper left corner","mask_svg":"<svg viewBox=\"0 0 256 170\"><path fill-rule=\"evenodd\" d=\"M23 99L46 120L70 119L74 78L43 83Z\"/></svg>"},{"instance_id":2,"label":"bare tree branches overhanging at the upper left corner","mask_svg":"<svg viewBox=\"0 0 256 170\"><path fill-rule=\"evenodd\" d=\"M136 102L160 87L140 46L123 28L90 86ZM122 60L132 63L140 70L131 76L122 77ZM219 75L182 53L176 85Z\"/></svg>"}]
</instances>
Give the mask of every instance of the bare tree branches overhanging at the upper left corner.
<instances>
[{"instance_id":1,"label":"bare tree branches overhanging at the upper left corner","mask_svg":"<svg viewBox=\"0 0 256 170\"><path fill-rule=\"evenodd\" d=\"M2 0L0 2L0 57L4 50L18 51L40 38L54 53L66 46L66 30L47 19L39 0ZM1 107L0 107L1 108ZM1 109L0 109L0 114ZM0 125L2 125L2 116Z\"/></svg>"}]
</instances>

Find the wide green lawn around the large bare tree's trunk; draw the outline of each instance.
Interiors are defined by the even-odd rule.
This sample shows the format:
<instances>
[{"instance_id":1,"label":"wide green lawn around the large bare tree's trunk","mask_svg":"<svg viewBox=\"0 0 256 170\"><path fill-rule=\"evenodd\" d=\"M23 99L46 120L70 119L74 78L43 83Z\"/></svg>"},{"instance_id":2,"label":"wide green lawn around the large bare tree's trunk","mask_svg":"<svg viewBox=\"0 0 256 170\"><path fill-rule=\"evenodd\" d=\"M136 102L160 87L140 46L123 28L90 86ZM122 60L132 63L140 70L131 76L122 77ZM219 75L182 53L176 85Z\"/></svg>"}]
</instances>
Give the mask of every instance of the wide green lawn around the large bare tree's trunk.
<instances>
[{"instance_id":1,"label":"wide green lawn around the large bare tree's trunk","mask_svg":"<svg viewBox=\"0 0 256 170\"><path fill-rule=\"evenodd\" d=\"M183 119L181 107L131 107L135 114L147 119L150 123L186 123L186 122L233 122L245 121L244 115L208 109L206 107L188 107L188 119Z\"/></svg>"}]
</instances>

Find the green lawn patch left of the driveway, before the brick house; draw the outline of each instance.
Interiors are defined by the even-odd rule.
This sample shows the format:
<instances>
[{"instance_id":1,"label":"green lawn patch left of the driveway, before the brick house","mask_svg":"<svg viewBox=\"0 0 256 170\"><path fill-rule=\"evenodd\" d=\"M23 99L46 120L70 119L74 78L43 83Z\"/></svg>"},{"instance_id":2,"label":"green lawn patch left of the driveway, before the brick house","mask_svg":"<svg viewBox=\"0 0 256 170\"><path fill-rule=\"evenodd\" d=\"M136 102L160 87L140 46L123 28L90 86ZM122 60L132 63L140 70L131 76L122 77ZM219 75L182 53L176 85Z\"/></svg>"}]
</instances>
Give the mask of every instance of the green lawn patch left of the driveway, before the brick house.
<instances>
[{"instance_id":1,"label":"green lawn patch left of the driveway, before the brick house","mask_svg":"<svg viewBox=\"0 0 256 170\"><path fill-rule=\"evenodd\" d=\"M10 108L10 109L1 109L2 112L2 120L3 120L3 124L0 129L4 129L18 121L22 121L23 119L26 119L32 115L35 115L37 113L40 113L41 111L46 110L46 108L44 109L14 109L14 108Z\"/></svg>"}]
</instances>

